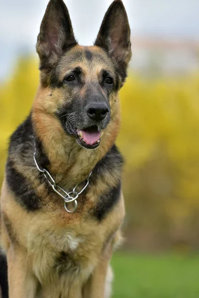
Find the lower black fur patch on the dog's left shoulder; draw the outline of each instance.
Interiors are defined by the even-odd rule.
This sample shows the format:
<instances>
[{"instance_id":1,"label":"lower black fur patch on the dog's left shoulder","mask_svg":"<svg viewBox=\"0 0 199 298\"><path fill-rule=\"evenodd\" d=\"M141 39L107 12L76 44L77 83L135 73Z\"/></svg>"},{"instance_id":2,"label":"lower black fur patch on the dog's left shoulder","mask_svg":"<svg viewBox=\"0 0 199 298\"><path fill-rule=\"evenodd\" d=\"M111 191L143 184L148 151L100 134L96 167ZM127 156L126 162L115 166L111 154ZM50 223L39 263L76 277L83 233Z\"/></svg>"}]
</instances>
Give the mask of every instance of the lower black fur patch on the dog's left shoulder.
<instances>
[{"instance_id":1,"label":"lower black fur patch on the dog's left shoulder","mask_svg":"<svg viewBox=\"0 0 199 298\"><path fill-rule=\"evenodd\" d=\"M25 207L27 211L40 209L39 197L30 187L27 179L14 168L13 162L9 159L6 164L6 181L18 204Z\"/></svg>"}]
</instances>

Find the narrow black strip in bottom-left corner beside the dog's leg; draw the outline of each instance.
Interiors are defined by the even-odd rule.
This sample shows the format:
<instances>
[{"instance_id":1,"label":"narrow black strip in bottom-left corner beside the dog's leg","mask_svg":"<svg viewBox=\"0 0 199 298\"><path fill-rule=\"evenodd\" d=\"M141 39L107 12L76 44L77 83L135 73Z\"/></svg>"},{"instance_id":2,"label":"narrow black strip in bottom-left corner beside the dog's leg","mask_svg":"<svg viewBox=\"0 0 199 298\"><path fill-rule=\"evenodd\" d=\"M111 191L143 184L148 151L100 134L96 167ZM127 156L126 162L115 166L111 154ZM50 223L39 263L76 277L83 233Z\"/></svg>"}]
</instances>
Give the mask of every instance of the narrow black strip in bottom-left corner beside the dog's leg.
<instances>
[{"instance_id":1,"label":"narrow black strip in bottom-left corner beside the dog's leg","mask_svg":"<svg viewBox=\"0 0 199 298\"><path fill-rule=\"evenodd\" d=\"M1 297L8 298L7 260L6 260L6 257L1 253L0 253L0 289L1 289Z\"/></svg>"}]
</instances>

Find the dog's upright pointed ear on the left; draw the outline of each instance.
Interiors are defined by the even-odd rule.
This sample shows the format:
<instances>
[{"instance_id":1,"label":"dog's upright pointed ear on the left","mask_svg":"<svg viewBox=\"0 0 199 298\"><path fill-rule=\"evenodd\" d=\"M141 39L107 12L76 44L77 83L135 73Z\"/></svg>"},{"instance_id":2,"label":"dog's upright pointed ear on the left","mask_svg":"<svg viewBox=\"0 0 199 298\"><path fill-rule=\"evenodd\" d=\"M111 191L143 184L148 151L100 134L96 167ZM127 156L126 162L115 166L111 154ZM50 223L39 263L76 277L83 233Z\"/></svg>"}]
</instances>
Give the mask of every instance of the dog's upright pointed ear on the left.
<instances>
[{"instance_id":1,"label":"dog's upright pointed ear on the left","mask_svg":"<svg viewBox=\"0 0 199 298\"><path fill-rule=\"evenodd\" d=\"M64 51L76 44L71 19L64 1L50 0L41 22L36 45L41 68L52 67Z\"/></svg>"}]
</instances>

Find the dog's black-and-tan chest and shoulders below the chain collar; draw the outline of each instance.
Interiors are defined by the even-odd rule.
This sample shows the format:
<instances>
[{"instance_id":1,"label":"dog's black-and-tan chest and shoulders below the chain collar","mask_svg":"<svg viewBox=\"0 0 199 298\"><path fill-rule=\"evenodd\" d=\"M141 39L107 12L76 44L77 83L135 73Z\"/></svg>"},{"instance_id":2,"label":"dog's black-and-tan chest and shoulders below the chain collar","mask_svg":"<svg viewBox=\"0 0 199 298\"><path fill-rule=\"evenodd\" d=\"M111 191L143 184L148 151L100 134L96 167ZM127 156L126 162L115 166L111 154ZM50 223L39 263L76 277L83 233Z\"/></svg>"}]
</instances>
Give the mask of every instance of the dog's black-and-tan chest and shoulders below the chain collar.
<instances>
[{"instance_id":1,"label":"dog's black-and-tan chest and shoulders below the chain collar","mask_svg":"<svg viewBox=\"0 0 199 298\"><path fill-rule=\"evenodd\" d=\"M116 147L94 168L74 214L65 211L62 199L36 169L28 120L13 134L9 152L2 205L9 213L12 242L25 247L31 270L41 283L54 283L61 276L87 279L124 215L122 159Z\"/></svg>"}]
</instances>

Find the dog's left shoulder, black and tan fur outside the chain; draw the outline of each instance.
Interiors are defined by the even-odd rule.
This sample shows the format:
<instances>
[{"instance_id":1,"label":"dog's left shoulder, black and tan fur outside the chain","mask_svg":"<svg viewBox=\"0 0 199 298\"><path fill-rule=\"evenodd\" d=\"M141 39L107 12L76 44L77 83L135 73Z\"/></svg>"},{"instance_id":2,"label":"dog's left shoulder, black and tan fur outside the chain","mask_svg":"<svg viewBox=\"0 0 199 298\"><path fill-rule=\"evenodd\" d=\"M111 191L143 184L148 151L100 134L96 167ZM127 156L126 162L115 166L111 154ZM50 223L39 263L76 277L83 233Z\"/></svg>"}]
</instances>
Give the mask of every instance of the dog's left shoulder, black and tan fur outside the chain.
<instances>
[{"instance_id":1,"label":"dog's left shoulder, black and tan fur outside the chain","mask_svg":"<svg viewBox=\"0 0 199 298\"><path fill-rule=\"evenodd\" d=\"M33 128L31 116L20 124L10 137L5 177L8 190L27 211L38 210L40 199L28 178L33 166Z\"/></svg>"}]
</instances>

